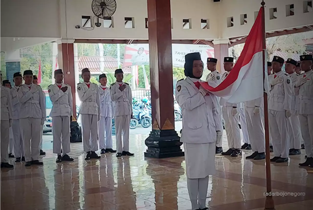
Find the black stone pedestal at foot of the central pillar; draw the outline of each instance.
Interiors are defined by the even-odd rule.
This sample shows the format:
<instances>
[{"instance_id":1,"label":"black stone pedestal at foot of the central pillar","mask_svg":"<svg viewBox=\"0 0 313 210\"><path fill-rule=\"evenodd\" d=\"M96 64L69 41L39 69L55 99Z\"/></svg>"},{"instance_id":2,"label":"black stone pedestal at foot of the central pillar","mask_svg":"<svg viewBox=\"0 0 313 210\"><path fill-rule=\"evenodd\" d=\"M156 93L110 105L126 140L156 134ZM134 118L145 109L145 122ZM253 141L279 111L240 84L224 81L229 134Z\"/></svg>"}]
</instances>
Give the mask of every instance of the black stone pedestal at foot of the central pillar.
<instances>
[{"instance_id":1,"label":"black stone pedestal at foot of the central pillar","mask_svg":"<svg viewBox=\"0 0 313 210\"><path fill-rule=\"evenodd\" d=\"M173 130L152 130L145 143L148 147L145 157L166 158L184 156L180 149L182 142Z\"/></svg>"}]
</instances>

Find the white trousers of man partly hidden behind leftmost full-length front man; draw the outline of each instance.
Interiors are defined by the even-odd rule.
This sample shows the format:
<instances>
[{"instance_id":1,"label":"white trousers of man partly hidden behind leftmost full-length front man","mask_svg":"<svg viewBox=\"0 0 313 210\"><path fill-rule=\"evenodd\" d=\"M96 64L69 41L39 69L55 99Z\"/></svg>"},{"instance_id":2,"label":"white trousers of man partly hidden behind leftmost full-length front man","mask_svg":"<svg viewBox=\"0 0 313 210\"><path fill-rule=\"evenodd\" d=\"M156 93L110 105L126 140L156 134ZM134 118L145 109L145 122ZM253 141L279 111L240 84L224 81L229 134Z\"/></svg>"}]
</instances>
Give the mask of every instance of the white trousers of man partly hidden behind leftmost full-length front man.
<instances>
[{"instance_id":1,"label":"white trousers of man partly hidden behind leftmost full-length front man","mask_svg":"<svg viewBox=\"0 0 313 210\"><path fill-rule=\"evenodd\" d=\"M14 155L15 157L23 157L25 154L19 120L12 120L12 131L14 140Z\"/></svg>"}]
</instances>

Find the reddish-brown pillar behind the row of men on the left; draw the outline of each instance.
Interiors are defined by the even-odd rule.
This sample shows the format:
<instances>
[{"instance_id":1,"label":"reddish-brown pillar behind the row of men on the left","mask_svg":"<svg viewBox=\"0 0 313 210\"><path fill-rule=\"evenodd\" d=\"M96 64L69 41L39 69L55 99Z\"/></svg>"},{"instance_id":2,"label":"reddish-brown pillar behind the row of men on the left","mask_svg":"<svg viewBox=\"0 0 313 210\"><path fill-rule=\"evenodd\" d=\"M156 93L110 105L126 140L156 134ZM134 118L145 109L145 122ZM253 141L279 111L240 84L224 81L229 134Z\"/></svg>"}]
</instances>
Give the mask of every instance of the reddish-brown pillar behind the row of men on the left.
<instances>
[{"instance_id":1,"label":"reddish-brown pillar behind the row of men on the left","mask_svg":"<svg viewBox=\"0 0 313 210\"><path fill-rule=\"evenodd\" d=\"M73 95L73 117L76 119L76 89L74 71L74 40L60 40L58 42L59 68L63 69L64 84L71 86Z\"/></svg>"}]
</instances>

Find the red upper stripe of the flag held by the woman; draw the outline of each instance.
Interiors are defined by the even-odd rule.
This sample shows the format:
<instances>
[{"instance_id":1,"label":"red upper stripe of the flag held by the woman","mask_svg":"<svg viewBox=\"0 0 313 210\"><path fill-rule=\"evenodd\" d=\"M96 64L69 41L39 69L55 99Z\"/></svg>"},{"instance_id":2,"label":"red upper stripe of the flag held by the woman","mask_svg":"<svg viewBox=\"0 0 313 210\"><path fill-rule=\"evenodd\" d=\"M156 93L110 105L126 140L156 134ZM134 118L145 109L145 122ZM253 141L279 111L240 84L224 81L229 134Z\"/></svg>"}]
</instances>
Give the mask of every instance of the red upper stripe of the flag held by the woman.
<instances>
[{"instance_id":1,"label":"red upper stripe of the flag held by the woman","mask_svg":"<svg viewBox=\"0 0 313 210\"><path fill-rule=\"evenodd\" d=\"M254 54L263 50L262 41L264 34L262 34L262 24L262 12L260 10L258 17L256 18L254 25L251 28L251 31L247 37L244 49L242 50L238 61L236 62L233 69L230 71L228 77L226 77L226 79L224 79L223 82L216 88L208 85L207 82L202 82L201 85L203 86L203 88L209 90L210 92L221 91L232 85L238 79L240 69L251 61Z\"/></svg>"}]
</instances>

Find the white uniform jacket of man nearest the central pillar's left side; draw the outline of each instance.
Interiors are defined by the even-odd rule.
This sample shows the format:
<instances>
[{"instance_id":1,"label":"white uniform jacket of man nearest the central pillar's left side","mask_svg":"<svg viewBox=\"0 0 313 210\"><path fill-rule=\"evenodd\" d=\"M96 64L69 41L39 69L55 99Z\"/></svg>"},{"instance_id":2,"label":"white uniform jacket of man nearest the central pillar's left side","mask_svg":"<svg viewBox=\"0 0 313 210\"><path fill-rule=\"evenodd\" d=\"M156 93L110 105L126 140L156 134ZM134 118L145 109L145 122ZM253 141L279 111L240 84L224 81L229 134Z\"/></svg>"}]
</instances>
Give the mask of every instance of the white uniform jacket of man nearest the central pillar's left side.
<instances>
[{"instance_id":1,"label":"white uniform jacket of man nearest the central pillar's left side","mask_svg":"<svg viewBox=\"0 0 313 210\"><path fill-rule=\"evenodd\" d=\"M111 100L114 103L113 116L131 115L132 111L132 96L131 88L127 83L126 88L121 91L120 84L118 82L113 83L110 86Z\"/></svg>"}]
</instances>

